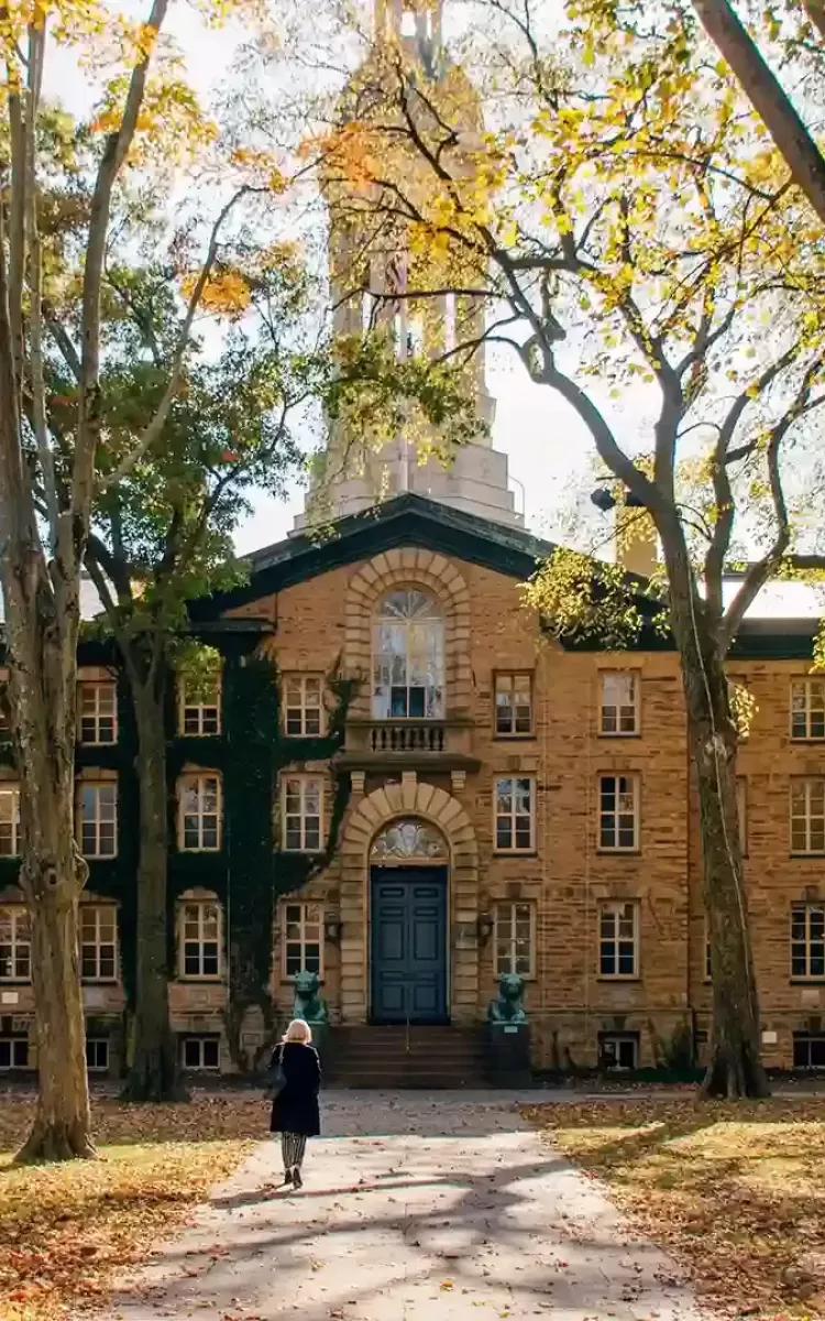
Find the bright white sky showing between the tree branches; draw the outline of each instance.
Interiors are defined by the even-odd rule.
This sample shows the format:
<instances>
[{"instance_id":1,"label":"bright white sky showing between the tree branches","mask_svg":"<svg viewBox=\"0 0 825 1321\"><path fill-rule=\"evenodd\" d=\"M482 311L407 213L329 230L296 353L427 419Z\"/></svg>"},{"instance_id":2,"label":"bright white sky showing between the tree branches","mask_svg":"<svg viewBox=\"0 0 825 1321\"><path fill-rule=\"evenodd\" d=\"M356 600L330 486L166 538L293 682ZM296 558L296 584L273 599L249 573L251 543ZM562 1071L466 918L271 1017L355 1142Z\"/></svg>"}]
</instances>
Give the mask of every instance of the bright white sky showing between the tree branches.
<instances>
[{"instance_id":1,"label":"bright white sky showing between the tree branches","mask_svg":"<svg viewBox=\"0 0 825 1321\"><path fill-rule=\"evenodd\" d=\"M272 12L284 12L294 0L269 0ZM451 0L446 0L446 18ZM127 0L127 12L139 16L147 12L147 0ZM461 9L454 0L453 13ZM447 25L449 26L449 25ZM206 103L224 83L232 58L238 50L240 29L203 28L195 9L183 0L173 0L165 26L176 40L183 57L189 79ZM53 49L46 62L45 94L58 99L66 110L84 115L94 102L94 87L81 71L73 55ZM578 416L548 387L533 384L515 354L504 346L491 346L487 355L487 390L496 402L492 444L507 454L515 505L524 514L525 526L536 535L553 539L558 535L558 511L568 505L572 489L581 490L594 480L598 468L593 445ZM649 448L652 419L645 416L649 399L640 387L638 394L624 392L622 400L610 398L607 388L595 391L595 398L616 439L630 452ZM281 540L293 526L294 517L304 505L304 490L294 486L286 501L257 498L249 518L240 526L236 548L240 553ZM605 552L610 555L610 515L605 515ZM598 523L595 524L598 527ZM764 593L756 613L797 614L818 613L812 606L810 593L803 589L774 589Z\"/></svg>"}]
</instances>

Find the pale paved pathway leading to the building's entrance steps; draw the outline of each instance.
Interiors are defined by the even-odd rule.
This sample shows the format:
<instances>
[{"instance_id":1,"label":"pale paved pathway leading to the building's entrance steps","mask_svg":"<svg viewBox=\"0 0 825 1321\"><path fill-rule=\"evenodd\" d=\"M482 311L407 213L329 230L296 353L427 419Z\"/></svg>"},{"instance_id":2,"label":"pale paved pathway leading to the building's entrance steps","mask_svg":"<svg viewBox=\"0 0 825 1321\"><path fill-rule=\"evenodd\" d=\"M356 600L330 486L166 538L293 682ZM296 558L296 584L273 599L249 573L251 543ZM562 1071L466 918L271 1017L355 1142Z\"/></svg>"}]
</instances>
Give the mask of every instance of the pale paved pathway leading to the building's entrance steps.
<instances>
[{"instance_id":1,"label":"pale paved pathway leading to the building's entrance steps","mask_svg":"<svg viewBox=\"0 0 825 1321\"><path fill-rule=\"evenodd\" d=\"M107 1321L700 1321L673 1263L516 1099L327 1094L304 1190L267 1188L281 1165L264 1143Z\"/></svg>"}]
</instances>

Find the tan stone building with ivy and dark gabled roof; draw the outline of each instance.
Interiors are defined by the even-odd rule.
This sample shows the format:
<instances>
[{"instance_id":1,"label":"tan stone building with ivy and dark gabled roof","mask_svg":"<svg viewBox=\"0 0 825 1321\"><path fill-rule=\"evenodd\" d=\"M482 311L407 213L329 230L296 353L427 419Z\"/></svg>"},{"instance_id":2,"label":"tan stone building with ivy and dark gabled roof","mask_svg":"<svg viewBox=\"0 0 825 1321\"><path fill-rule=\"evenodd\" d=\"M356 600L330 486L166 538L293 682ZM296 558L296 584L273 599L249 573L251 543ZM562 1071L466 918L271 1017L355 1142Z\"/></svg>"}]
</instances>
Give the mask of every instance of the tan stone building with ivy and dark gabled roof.
<instances>
[{"instance_id":1,"label":"tan stone building with ivy and dark gabled roof","mask_svg":"<svg viewBox=\"0 0 825 1321\"><path fill-rule=\"evenodd\" d=\"M414 11L379 0L378 32L437 42L440 5ZM339 292L345 273L333 225ZM445 305L444 322L455 313ZM490 415L482 369L477 388ZM393 1030L414 1030L445 1078L511 971L539 1069L701 1059L710 985L673 650L645 633L622 654L541 637L520 584L549 547L520 526L506 458L484 437L447 469L418 468L401 439L321 494L333 535L312 534L314 491L294 534L251 557L246 585L191 608L222 672L210 700L181 687L168 712L170 1009L185 1067L249 1066L300 971L318 972L333 1037L356 1033L368 1055L370 1034L387 1052ZM730 658L755 703L739 824L777 1067L825 1065L825 679L810 674L812 637L813 621L748 620ZM135 985L133 756L114 653L87 642L79 952L88 1066L110 1074L128 1055ZM0 1071L33 1063L18 847L0 723Z\"/></svg>"}]
</instances>

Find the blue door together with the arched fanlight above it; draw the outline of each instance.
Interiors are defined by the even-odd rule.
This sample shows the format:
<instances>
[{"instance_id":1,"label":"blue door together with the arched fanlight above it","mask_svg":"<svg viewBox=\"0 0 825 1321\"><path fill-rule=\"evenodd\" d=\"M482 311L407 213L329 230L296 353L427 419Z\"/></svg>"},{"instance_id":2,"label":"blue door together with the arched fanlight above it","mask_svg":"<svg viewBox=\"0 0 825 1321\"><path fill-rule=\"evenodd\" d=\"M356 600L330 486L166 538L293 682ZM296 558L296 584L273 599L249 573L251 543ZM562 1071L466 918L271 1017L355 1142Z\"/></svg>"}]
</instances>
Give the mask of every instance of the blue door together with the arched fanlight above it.
<instances>
[{"instance_id":1,"label":"blue door together with the arched fanlight above it","mask_svg":"<svg viewBox=\"0 0 825 1321\"><path fill-rule=\"evenodd\" d=\"M370 1018L449 1021L447 844L429 822L388 822L370 848Z\"/></svg>"}]
</instances>

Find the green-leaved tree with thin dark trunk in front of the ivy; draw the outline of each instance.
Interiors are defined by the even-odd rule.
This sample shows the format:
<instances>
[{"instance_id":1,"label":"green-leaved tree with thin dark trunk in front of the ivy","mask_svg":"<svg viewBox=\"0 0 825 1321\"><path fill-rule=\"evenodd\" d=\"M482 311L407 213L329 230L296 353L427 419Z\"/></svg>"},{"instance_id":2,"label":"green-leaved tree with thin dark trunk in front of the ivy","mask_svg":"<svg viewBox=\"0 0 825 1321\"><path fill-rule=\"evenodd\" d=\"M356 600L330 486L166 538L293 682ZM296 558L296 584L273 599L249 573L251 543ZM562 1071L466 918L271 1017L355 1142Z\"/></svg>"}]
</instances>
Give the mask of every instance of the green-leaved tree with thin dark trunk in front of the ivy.
<instances>
[{"instance_id":1,"label":"green-leaved tree with thin dark trunk in front of the ivy","mask_svg":"<svg viewBox=\"0 0 825 1321\"><path fill-rule=\"evenodd\" d=\"M95 507L86 563L123 658L137 729L140 793L137 867L137 985L133 1061L125 1095L131 1100L182 1096L168 1000L166 873L169 785L166 696L174 671L187 684L214 687L211 649L187 634L190 600L227 585L242 573L232 534L248 509L251 487L284 494L300 466L290 417L314 392L321 362L289 349L302 312L302 275L284 250L259 255L271 325L238 326L222 351L205 358L193 345L182 388L169 411L160 444L123 480L106 483ZM261 281L263 283L263 281ZM102 387L108 433L107 462L117 469L133 452L145 417L156 408L168 374L169 346L183 314L168 271L112 269L107 285L120 309L110 324ZM230 310L243 276L216 272L207 285L211 306Z\"/></svg>"}]
</instances>

